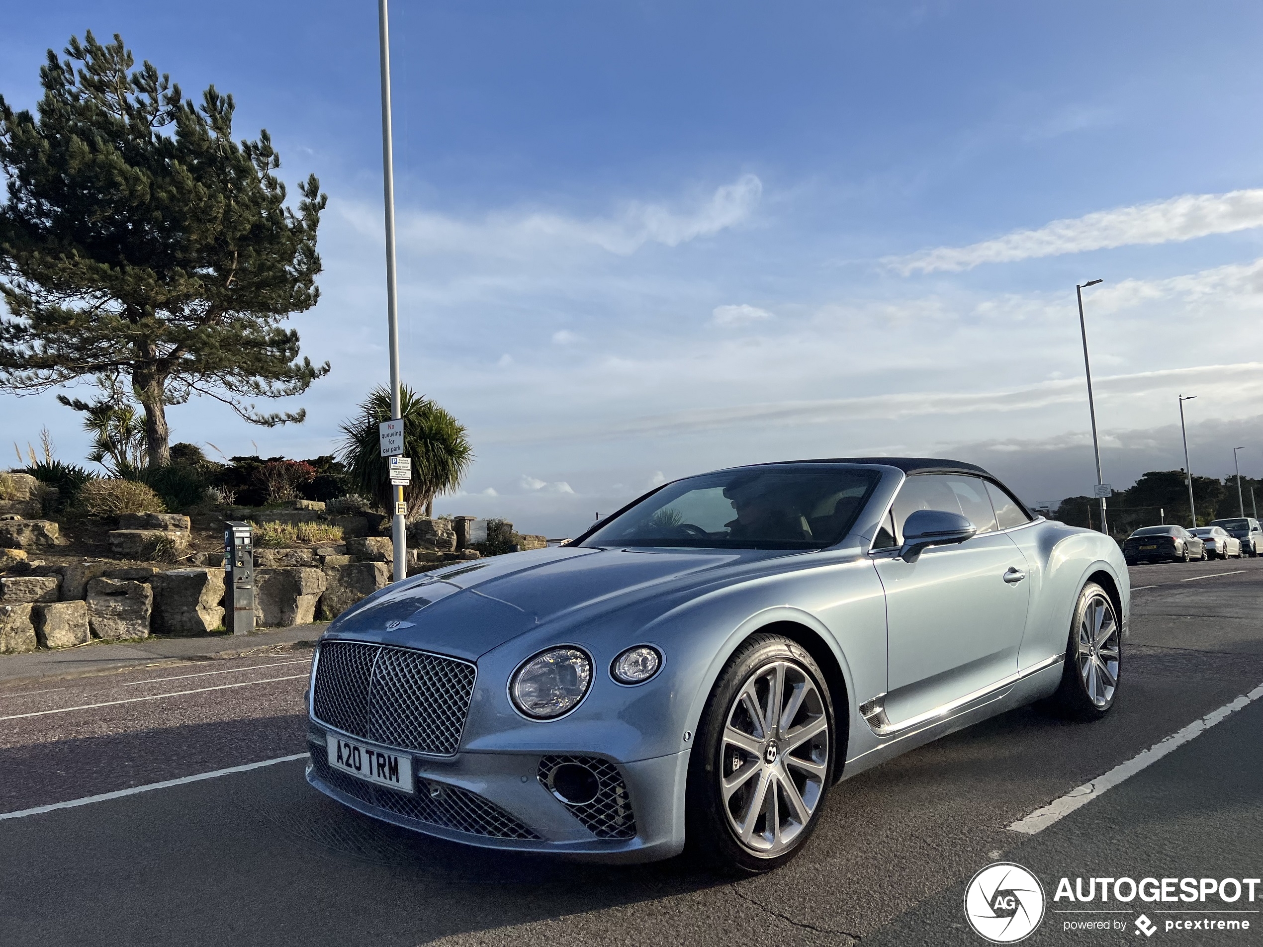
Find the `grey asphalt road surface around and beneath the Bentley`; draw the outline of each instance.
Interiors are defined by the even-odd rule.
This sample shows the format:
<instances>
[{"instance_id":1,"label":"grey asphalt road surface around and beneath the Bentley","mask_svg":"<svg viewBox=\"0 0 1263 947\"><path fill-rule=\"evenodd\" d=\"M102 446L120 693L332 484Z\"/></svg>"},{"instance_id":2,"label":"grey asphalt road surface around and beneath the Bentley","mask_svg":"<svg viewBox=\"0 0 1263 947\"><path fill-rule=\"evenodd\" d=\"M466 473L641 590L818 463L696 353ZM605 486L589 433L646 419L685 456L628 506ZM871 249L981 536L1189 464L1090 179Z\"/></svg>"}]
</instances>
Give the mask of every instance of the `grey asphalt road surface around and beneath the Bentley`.
<instances>
[{"instance_id":1,"label":"grey asphalt road surface around and beneath the Bentley","mask_svg":"<svg viewBox=\"0 0 1263 947\"><path fill-rule=\"evenodd\" d=\"M1007 828L1263 683L1263 559L1140 566L1132 582L1106 720L1023 708L847 780L770 875L427 840L325 799L296 760L0 819L0 943L981 944L961 898L1002 860L1050 899L1027 943L1263 943L1259 914L1233 915L1249 932L1185 933L1164 923L1192 915L1152 908L1190 905L1147 904L1147 938L1142 905L1094 905L1123 928L1067 932L1085 914L1051 900L1061 876L1263 876L1263 701L1038 835ZM304 672L292 653L0 684L0 813L302 753Z\"/></svg>"}]
</instances>

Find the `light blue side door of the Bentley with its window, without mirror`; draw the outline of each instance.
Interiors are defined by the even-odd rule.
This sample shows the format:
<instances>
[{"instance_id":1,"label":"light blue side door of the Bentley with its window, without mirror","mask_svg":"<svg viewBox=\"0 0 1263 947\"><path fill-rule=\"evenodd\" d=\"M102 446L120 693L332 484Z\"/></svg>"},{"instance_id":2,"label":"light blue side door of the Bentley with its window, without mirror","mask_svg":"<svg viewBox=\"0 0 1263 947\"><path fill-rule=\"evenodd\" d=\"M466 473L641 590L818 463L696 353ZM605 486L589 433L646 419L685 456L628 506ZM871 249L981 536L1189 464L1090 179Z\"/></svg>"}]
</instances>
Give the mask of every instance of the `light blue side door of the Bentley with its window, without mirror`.
<instances>
[{"instance_id":1,"label":"light blue side door of the Bentley with its window, without mirror","mask_svg":"<svg viewBox=\"0 0 1263 947\"><path fill-rule=\"evenodd\" d=\"M962 514L978 534L959 545L931 547L916 562L904 562L898 556L903 523L925 509ZM1026 558L1007 534L997 532L979 477L909 476L882 535L888 537L889 548L870 554L887 602L885 713L898 726L1017 670L1029 583Z\"/></svg>"}]
</instances>

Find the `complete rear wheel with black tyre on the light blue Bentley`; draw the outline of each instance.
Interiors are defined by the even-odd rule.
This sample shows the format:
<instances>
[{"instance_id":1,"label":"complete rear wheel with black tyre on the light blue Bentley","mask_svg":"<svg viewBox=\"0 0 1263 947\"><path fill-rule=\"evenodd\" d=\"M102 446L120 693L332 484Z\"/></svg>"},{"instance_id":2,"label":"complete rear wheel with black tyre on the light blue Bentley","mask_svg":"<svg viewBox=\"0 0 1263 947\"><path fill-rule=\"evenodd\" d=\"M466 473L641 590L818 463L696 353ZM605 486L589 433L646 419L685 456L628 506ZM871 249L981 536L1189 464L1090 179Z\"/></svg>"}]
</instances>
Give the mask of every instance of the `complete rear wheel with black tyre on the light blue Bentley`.
<instances>
[{"instance_id":1,"label":"complete rear wheel with black tyre on the light blue Bentley","mask_svg":"<svg viewBox=\"0 0 1263 947\"><path fill-rule=\"evenodd\" d=\"M1122 626L1114 602L1095 582L1084 586L1070 626L1066 663L1053 703L1074 720L1104 717L1118 696Z\"/></svg>"}]
</instances>

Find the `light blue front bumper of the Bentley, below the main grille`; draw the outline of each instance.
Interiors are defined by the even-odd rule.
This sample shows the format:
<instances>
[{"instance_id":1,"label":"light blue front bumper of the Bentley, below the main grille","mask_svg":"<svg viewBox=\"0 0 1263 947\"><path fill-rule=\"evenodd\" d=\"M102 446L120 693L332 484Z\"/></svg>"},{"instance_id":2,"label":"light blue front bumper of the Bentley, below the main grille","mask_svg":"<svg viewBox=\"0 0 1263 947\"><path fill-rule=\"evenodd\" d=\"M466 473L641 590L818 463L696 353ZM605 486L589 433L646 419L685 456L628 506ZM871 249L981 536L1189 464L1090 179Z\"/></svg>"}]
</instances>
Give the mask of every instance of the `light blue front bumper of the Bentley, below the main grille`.
<instances>
[{"instance_id":1,"label":"light blue front bumper of the Bentley, below the main grille","mask_svg":"<svg viewBox=\"0 0 1263 947\"><path fill-rule=\"evenodd\" d=\"M373 818L416 832L485 849L572 856L585 861L638 862L669 859L683 849L683 798L688 750L623 763L592 753L582 758L610 774L625 795L614 808L567 806L541 782L539 753L457 753L412 756L416 792L376 787L328 765L323 725L308 724L312 761L307 782L332 799ZM361 737L342 735L365 744ZM580 756L570 750L566 758ZM547 765L547 763L546 763ZM629 812L623 812L625 799ZM634 819L629 828L626 819ZM632 837L610 837L628 835ZM602 837L605 836L605 837Z\"/></svg>"}]
</instances>

